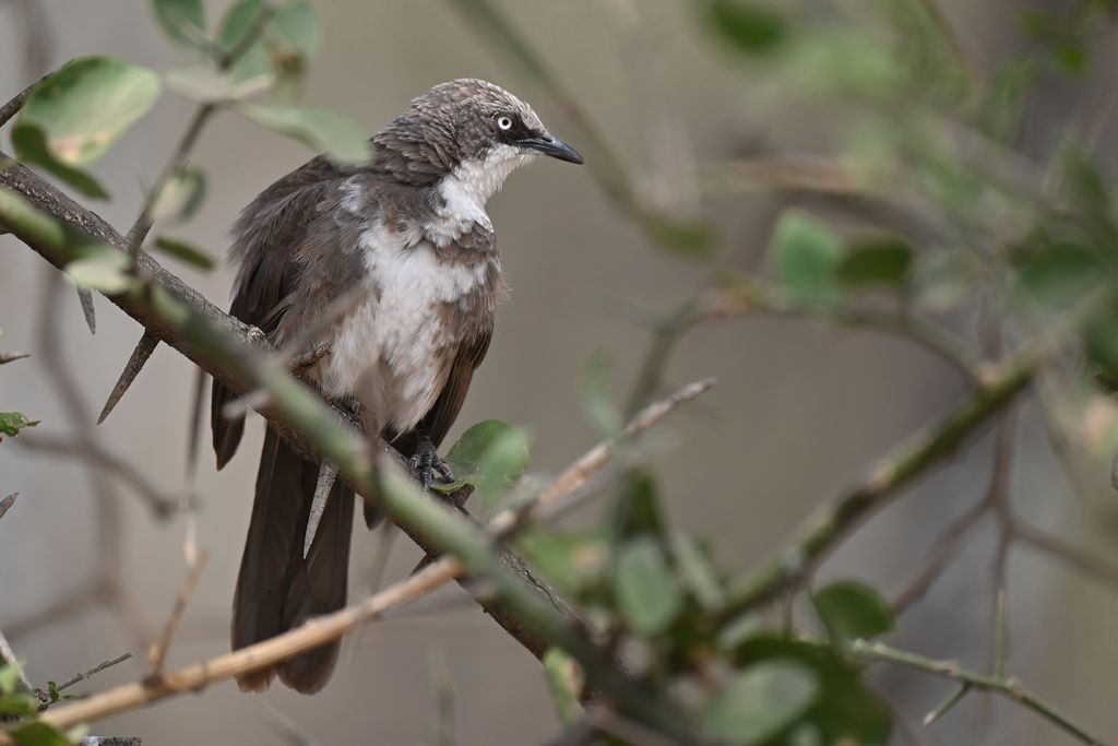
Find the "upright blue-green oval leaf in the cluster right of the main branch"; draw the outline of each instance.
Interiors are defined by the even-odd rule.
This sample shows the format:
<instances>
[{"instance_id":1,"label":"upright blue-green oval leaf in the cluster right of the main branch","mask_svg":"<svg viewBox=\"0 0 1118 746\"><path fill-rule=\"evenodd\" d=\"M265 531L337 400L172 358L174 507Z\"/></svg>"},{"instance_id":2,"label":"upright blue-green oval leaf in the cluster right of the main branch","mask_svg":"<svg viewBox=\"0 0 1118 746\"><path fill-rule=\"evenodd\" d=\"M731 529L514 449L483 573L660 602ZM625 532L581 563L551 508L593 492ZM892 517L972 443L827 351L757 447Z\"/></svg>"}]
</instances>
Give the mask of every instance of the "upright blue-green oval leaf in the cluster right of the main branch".
<instances>
[{"instance_id":1,"label":"upright blue-green oval leaf in the cluster right of the main branch","mask_svg":"<svg viewBox=\"0 0 1118 746\"><path fill-rule=\"evenodd\" d=\"M628 627L660 634L683 611L683 591L664 548L651 536L623 544L614 563L614 597Z\"/></svg>"}]
</instances>

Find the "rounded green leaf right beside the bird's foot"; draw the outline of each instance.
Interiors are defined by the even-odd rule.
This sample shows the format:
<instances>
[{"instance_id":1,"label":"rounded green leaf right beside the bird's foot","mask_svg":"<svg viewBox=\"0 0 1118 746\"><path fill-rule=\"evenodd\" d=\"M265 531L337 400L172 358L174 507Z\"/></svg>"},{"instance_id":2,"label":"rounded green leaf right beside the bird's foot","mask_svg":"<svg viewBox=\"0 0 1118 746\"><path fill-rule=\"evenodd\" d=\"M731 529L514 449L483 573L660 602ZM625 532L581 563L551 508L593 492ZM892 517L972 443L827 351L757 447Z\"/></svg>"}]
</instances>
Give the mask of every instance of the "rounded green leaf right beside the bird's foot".
<instances>
[{"instance_id":1,"label":"rounded green leaf right beside the bird's foot","mask_svg":"<svg viewBox=\"0 0 1118 746\"><path fill-rule=\"evenodd\" d=\"M500 419L477 423L446 454L455 481L473 484L486 501L515 484L528 460L528 436Z\"/></svg>"}]
</instances>

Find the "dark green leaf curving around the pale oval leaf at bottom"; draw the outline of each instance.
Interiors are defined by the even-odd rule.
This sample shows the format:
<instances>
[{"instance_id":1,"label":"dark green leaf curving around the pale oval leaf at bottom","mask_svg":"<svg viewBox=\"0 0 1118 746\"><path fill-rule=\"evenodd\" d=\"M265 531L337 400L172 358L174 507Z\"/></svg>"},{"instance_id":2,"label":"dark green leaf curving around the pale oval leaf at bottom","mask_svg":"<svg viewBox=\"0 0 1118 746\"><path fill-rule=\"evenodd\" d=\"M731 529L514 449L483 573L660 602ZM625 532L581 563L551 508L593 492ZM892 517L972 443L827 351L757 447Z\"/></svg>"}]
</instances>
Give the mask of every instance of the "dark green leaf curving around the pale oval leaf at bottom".
<instances>
[{"instance_id":1,"label":"dark green leaf curving around the pale oval leaf at bottom","mask_svg":"<svg viewBox=\"0 0 1118 746\"><path fill-rule=\"evenodd\" d=\"M800 724L816 727L824 744L884 746L889 743L892 715L889 707L862 681L861 670L834 649L813 645L784 635L757 634L738 649L740 667L768 660L793 659L813 670L818 696L800 716Z\"/></svg>"}]
</instances>

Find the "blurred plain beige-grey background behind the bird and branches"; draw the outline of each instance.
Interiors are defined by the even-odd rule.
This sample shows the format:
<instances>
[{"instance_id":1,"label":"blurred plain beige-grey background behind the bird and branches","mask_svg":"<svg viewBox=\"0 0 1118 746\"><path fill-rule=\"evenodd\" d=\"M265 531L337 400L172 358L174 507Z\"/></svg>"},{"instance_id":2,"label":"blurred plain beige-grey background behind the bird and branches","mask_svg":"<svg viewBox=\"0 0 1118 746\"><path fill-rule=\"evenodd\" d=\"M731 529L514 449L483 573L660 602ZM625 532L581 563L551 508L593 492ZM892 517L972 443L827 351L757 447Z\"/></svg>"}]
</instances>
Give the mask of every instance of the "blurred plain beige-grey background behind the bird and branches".
<instances>
[{"instance_id":1,"label":"blurred plain beige-grey background behind the bird and branches","mask_svg":"<svg viewBox=\"0 0 1118 746\"><path fill-rule=\"evenodd\" d=\"M25 11L34 6L47 29L30 62L21 43L20 3ZM769 232L789 204L846 219L841 205L787 191L746 188L710 195L702 185L705 169L759 153L827 154L845 144L846 125L859 114L841 97L816 96L779 68L750 64L728 50L688 1L495 4L616 150L642 199L702 217L719 236L713 259L681 259L659 249L617 209L588 168L556 162L514 174L491 201L512 295L447 442L480 419L505 419L531 433L531 470L549 473L596 440L582 414L588 359L600 353L609 360L609 386L618 400L631 389L651 336L634 323L629 309L670 311L707 282L712 263L728 270L762 268ZM870 4L818 3L807 12L834 12L850 21ZM1031 44L1020 22L1023 3L1016 0L940 4L983 67L994 68ZM1076 3L1034 4L1071 12ZM226 6L210 3L212 17ZM581 147L569 115L456 3L321 0L315 6L323 43L305 81L305 104L344 113L372 131L427 87L477 76L532 103L555 133ZM1112 40L1109 31L1092 38L1087 72L1041 78L1022 129L1026 153L1050 152L1079 102L1108 95L1118 64ZM0 2L0 98L30 83L34 65L54 68L87 54L113 54L159 70L182 62L155 29L146 6L134 0ZM164 96L98 167L114 199L96 209L117 228L134 219L142 189L180 136L191 105ZM888 131L888 114L882 119L878 124ZM1118 155L1112 135L1107 125L1099 139L1102 158L1111 164ZM222 114L193 159L209 178L206 204L177 235L224 255L238 210L310 155L297 143ZM200 274L173 261L168 265L226 305L231 285L226 267ZM41 421L31 434L42 438L72 432L40 349L39 309L49 272L18 242L0 237L3 346L32 355L0 371L0 408L18 397L19 408ZM98 296L97 331L91 337L76 296L69 291L64 296L57 311L59 344L92 418L140 329ZM948 315L948 321L972 331L966 314ZM814 507L854 483L875 456L938 419L967 391L958 371L903 339L789 318L739 318L686 336L670 359L665 383L707 376L716 376L718 387L670 421L665 433L672 447L656 473L673 520L712 539L720 565L735 572L768 556ZM182 357L160 348L95 431L105 448L126 459L164 495L183 483L193 379ZM170 652L172 665L228 648L229 606L260 433L257 422L221 473L212 468L208 446L203 453L198 530L210 558ZM960 453L877 516L824 565L818 578L856 577L900 592L942 528L982 499L992 441L987 436ZM1091 462L1069 481L1031 402L1022 409L1017 445L1011 483L1020 512L1033 525L1118 561L1118 495L1109 487L1108 464ZM153 519L119 479L110 479L104 499L97 500L97 484L80 462L16 446L0 448L2 489L20 493L0 522L0 629L35 681L65 680L125 651L136 659L86 688L142 676L139 644L159 629L183 577L182 521ZM111 506L119 510L108 519L116 528L106 531ZM969 537L958 560L901 617L893 639L898 645L988 668L994 529L988 521ZM356 530L351 596L371 582L379 540L379 533ZM417 559L406 539L398 541L389 577L407 573ZM102 589L91 586L91 578L105 567L120 569L120 591L131 610L123 617L104 604L37 617L59 598L98 595ZM1026 547L1010 556L1010 671L1109 738L1118 738L1114 591ZM318 744L434 744L439 743L439 702L449 701L455 743L544 743L558 723L538 662L459 588L444 589L439 598L444 603L438 607L400 613L351 635L334 679L316 697L281 687L249 696L221 683L197 697L108 720L95 733L135 735L145 744L168 746L276 743L285 729ZM898 744L1069 743L1031 714L985 697L969 698L925 729L923 714L953 684L885 670L875 671L873 680L896 707Z\"/></svg>"}]
</instances>

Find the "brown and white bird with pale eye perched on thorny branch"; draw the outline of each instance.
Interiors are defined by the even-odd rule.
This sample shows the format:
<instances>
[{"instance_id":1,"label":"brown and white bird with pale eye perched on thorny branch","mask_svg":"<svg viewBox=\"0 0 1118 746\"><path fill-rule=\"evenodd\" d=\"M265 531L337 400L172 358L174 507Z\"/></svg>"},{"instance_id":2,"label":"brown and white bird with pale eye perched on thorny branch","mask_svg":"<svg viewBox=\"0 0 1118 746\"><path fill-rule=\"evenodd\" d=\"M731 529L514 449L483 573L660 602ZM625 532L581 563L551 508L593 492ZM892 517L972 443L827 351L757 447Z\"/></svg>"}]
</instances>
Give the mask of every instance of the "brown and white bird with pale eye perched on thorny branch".
<instances>
[{"instance_id":1,"label":"brown and white bird with pale eye perched on thorny branch","mask_svg":"<svg viewBox=\"0 0 1118 746\"><path fill-rule=\"evenodd\" d=\"M360 413L429 485L449 476L437 448L454 423L493 336L506 287L487 200L515 169L582 157L531 106L477 78L443 83L370 138L372 155L340 166L318 155L280 178L240 214L230 262L230 314L277 349L325 349L300 375L324 399ZM244 414L215 381L217 466L233 457ZM340 481L304 546L320 466L267 427L233 602L241 649L344 606L356 495ZM323 494L325 491L323 490ZM378 516L368 503L366 523ZM245 691L278 677L314 693L339 642L241 674Z\"/></svg>"}]
</instances>

